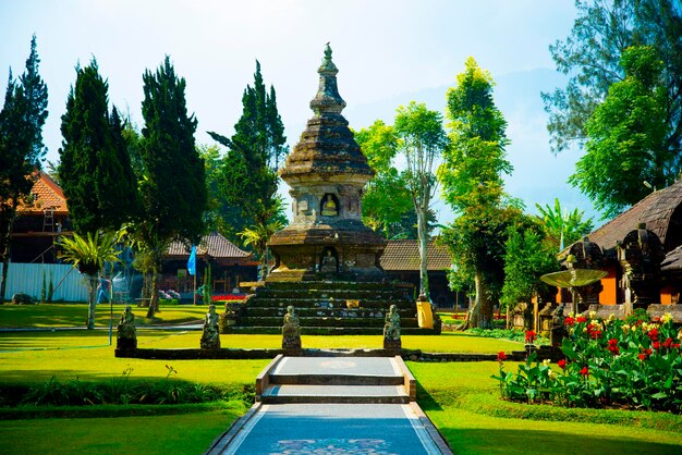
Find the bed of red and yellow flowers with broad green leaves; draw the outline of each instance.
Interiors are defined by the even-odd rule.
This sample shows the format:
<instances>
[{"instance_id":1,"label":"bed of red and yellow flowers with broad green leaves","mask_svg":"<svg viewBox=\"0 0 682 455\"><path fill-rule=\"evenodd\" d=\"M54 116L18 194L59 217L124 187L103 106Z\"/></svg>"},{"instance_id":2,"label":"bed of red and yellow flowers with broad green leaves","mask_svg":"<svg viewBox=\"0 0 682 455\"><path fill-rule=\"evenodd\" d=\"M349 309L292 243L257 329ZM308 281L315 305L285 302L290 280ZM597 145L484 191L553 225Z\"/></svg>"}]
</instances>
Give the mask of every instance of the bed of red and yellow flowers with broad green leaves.
<instances>
[{"instance_id":1,"label":"bed of red and yellow flowers with broad green leaves","mask_svg":"<svg viewBox=\"0 0 682 455\"><path fill-rule=\"evenodd\" d=\"M682 411L682 330L675 330L670 315L648 322L604 320L593 313L571 316L564 324L569 336L558 368L532 353L517 373L506 372L500 353L500 373L492 378L500 382L503 398Z\"/></svg>"}]
</instances>

